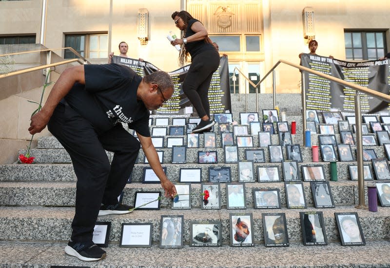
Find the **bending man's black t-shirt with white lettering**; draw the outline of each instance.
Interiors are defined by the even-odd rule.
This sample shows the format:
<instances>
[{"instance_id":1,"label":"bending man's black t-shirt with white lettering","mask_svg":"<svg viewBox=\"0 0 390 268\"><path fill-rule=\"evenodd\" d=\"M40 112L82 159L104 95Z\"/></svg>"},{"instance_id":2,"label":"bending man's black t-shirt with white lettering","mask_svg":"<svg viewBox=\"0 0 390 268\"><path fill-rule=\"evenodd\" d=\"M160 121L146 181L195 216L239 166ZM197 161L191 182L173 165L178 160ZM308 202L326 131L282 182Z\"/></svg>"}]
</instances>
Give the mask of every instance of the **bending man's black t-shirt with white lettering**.
<instances>
[{"instance_id":1,"label":"bending man's black t-shirt with white lettering","mask_svg":"<svg viewBox=\"0 0 390 268\"><path fill-rule=\"evenodd\" d=\"M132 69L111 64L84 65L85 85L76 83L65 100L102 133L118 122L128 123L144 137L150 137L149 110L137 101L142 81Z\"/></svg>"}]
</instances>

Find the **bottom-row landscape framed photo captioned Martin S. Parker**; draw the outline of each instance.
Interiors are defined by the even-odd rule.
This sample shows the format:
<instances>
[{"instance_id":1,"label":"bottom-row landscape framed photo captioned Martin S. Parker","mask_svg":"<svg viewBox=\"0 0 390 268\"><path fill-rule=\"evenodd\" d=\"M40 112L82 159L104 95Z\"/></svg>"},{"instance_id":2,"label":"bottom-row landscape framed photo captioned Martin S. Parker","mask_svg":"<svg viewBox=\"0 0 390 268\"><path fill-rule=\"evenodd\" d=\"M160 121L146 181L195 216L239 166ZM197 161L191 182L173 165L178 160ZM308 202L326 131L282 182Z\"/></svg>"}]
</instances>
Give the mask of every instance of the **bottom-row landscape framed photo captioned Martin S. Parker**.
<instances>
[{"instance_id":1,"label":"bottom-row landscape framed photo captioned Martin S. Parker","mask_svg":"<svg viewBox=\"0 0 390 268\"><path fill-rule=\"evenodd\" d=\"M221 222L192 222L190 224L191 247L220 247L222 246Z\"/></svg>"}]
</instances>

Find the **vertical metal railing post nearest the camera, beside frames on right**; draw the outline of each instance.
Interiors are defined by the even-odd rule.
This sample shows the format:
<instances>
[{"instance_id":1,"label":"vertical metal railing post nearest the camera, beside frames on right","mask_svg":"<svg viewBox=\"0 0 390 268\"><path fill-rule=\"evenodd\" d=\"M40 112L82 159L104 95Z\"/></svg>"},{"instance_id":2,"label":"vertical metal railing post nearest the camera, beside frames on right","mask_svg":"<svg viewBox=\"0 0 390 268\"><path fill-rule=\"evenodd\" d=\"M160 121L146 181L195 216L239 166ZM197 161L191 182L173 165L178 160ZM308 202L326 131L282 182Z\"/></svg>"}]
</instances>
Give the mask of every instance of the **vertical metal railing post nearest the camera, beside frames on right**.
<instances>
[{"instance_id":1,"label":"vertical metal railing post nearest the camera, beside frames on right","mask_svg":"<svg viewBox=\"0 0 390 268\"><path fill-rule=\"evenodd\" d=\"M367 209L366 196L364 192L364 171L363 171L363 142L362 142L362 115L360 111L360 96L356 91L355 95L355 119L356 119L356 160L357 160L357 187L359 205L356 208Z\"/></svg>"}]
</instances>

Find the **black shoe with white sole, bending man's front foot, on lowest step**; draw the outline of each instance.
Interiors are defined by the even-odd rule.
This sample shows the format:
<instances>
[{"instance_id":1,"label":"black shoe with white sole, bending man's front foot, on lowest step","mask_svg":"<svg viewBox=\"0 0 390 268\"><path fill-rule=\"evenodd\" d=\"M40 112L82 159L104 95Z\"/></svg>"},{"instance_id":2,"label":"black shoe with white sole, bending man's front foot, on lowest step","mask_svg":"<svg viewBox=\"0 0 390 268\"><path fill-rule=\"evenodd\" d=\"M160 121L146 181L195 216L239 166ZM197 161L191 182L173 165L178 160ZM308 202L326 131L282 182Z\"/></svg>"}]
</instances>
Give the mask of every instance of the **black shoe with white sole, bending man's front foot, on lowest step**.
<instances>
[{"instance_id":1,"label":"black shoe with white sole, bending man's front foot, on lowest step","mask_svg":"<svg viewBox=\"0 0 390 268\"><path fill-rule=\"evenodd\" d=\"M106 257L106 251L95 245L93 242L81 243L69 241L68 245L65 247L65 253L84 262L98 261Z\"/></svg>"}]
</instances>

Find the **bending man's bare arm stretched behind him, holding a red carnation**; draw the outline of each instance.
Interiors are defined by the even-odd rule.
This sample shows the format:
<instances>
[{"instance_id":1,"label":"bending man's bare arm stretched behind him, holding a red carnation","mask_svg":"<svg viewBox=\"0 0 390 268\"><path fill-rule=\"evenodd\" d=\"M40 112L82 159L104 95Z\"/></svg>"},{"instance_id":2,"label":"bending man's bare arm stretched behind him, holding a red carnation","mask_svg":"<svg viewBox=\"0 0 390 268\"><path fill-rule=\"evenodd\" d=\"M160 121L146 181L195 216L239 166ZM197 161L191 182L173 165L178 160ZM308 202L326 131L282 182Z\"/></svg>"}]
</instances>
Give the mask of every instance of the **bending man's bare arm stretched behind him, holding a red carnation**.
<instances>
[{"instance_id":1,"label":"bending man's bare arm stretched behind him, holding a red carnation","mask_svg":"<svg viewBox=\"0 0 390 268\"><path fill-rule=\"evenodd\" d=\"M75 82L85 84L84 65L68 68L59 76L42 109L31 117L28 128L30 134L39 133L45 128L59 101L68 94Z\"/></svg>"}]
</instances>

